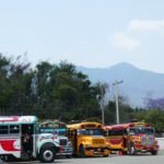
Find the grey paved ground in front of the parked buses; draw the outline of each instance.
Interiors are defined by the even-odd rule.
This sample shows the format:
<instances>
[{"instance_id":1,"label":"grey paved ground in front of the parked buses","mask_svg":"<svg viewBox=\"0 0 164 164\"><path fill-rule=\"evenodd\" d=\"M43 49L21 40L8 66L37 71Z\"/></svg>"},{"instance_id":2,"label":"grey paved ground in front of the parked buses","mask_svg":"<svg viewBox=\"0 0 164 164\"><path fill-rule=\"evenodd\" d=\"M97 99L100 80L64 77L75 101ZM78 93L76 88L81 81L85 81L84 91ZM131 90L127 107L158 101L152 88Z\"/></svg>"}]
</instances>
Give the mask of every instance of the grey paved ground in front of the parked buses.
<instances>
[{"instance_id":1,"label":"grey paved ground in front of the parked buses","mask_svg":"<svg viewBox=\"0 0 164 164\"><path fill-rule=\"evenodd\" d=\"M55 164L164 164L164 154L110 155L109 157L57 159ZM5 164L39 164L38 161L10 162Z\"/></svg>"}]
</instances>

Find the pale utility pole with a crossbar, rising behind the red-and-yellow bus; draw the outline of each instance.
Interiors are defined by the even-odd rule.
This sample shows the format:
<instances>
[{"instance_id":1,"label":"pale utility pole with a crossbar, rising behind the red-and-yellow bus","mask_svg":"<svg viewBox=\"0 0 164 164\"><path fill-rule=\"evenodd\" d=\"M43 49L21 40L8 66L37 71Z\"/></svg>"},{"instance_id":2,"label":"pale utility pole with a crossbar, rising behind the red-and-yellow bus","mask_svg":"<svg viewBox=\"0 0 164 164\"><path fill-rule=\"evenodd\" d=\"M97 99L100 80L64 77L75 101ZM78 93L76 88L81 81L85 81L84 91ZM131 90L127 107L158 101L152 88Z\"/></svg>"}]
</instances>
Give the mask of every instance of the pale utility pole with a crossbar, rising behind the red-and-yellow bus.
<instances>
[{"instance_id":1,"label":"pale utility pole with a crossbar, rising behind the red-and-yellow bus","mask_svg":"<svg viewBox=\"0 0 164 164\"><path fill-rule=\"evenodd\" d=\"M115 101L116 101L116 124L119 124L119 107L118 107L118 84L122 81L115 81L113 85L115 86Z\"/></svg>"}]
</instances>

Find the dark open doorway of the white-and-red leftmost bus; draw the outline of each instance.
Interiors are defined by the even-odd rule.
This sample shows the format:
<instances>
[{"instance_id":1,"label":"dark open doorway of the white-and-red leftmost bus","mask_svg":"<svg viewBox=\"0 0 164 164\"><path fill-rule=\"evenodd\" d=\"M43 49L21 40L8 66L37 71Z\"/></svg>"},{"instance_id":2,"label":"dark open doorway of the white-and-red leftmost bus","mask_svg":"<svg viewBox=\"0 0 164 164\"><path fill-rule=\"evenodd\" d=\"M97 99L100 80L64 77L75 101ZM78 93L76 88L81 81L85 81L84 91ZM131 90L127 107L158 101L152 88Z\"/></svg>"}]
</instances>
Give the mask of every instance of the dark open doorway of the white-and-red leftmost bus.
<instances>
[{"instance_id":1,"label":"dark open doorway of the white-and-red leftmost bus","mask_svg":"<svg viewBox=\"0 0 164 164\"><path fill-rule=\"evenodd\" d=\"M32 155L35 150L35 143L34 143L34 125L22 125L21 128L22 131L22 153Z\"/></svg>"}]
</instances>

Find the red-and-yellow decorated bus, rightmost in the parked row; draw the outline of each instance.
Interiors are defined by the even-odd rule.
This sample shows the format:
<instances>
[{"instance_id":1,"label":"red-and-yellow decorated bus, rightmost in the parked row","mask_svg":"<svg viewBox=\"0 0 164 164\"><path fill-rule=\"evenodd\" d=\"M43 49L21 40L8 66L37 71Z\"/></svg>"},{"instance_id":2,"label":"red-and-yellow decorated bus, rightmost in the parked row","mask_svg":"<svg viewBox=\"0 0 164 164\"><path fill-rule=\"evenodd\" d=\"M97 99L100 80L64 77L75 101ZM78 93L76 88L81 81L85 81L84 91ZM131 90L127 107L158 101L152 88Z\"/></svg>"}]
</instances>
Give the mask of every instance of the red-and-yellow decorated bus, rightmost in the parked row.
<instances>
[{"instance_id":1,"label":"red-and-yellow decorated bus, rightmost in the parked row","mask_svg":"<svg viewBox=\"0 0 164 164\"><path fill-rule=\"evenodd\" d=\"M155 131L148 122L104 126L104 131L112 151L121 151L122 154L131 155L138 152L157 154Z\"/></svg>"}]
</instances>

